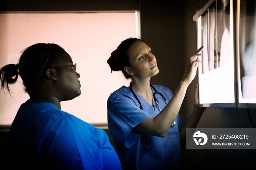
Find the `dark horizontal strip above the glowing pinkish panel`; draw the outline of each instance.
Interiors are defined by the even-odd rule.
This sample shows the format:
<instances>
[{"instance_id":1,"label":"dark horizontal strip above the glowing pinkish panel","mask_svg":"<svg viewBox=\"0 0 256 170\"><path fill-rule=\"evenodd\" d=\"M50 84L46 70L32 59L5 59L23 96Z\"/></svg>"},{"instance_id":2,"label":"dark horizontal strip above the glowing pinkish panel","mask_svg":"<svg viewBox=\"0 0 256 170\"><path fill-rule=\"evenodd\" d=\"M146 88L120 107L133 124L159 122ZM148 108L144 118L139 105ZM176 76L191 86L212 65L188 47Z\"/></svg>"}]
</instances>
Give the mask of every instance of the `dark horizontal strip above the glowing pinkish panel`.
<instances>
[{"instance_id":1,"label":"dark horizontal strip above the glowing pinkish panel","mask_svg":"<svg viewBox=\"0 0 256 170\"><path fill-rule=\"evenodd\" d=\"M136 10L138 0L2 0L0 11Z\"/></svg>"}]
</instances>

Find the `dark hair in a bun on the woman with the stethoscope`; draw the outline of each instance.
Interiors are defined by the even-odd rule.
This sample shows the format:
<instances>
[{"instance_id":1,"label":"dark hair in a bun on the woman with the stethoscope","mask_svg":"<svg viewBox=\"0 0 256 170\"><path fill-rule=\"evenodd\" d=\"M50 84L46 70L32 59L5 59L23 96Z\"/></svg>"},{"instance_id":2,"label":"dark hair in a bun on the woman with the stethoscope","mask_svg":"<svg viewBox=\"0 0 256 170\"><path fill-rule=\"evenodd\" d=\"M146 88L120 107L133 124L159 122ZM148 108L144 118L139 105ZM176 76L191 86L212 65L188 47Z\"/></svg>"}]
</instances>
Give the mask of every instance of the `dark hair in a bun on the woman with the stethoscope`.
<instances>
[{"instance_id":1,"label":"dark hair in a bun on the woman with the stethoscope","mask_svg":"<svg viewBox=\"0 0 256 170\"><path fill-rule=\"evenodd\" d=\"M120 45L117 47L116 50L114 50L109 59L107 60L107 63L109 64L109 67L113 71L122 71L124 74L124 77L129 79L131 76L127 74L124 70L125 66L130 66L129 62L129 55L127 53L128 49L137 41L142 41L141 39L138 38L128 38L124 40L123 42L120 43Z\"/></svg>"}]
</instances>

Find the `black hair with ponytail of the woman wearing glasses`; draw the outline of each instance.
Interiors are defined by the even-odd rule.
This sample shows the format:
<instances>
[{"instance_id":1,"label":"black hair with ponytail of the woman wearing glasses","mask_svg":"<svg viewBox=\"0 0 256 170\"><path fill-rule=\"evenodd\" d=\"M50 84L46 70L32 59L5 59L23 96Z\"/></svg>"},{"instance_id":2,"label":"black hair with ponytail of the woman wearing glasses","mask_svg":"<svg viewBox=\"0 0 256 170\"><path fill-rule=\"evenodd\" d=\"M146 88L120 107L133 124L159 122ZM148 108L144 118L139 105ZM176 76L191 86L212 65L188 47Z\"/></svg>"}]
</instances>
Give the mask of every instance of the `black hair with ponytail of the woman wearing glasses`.
<instances>
[{"instance_id":1,"label":"black hair with ponytail of the woman wearing glasses","mask_svg":"<svg viewBox=\"0 0 256 170\"><path fill-rule=\"evenodd\" d=\"M45 48L48 46L48 48ZM47 50L47 52L46 52ZM50 65L56 65L61 59L61 54L65 50L56 44L37 43L27 47L22 51L18 64L8 64L0 69L1 90L5 89L10 93L10 84L14 84L18 80L18 74L22 78L25 92L30 94L38 84L41 76L39 72L42 65L45 68ZM45 54L49 54L48 57ZM45 57L48 58L47 63L43 63Z\"/></svg>"}]
</instances>

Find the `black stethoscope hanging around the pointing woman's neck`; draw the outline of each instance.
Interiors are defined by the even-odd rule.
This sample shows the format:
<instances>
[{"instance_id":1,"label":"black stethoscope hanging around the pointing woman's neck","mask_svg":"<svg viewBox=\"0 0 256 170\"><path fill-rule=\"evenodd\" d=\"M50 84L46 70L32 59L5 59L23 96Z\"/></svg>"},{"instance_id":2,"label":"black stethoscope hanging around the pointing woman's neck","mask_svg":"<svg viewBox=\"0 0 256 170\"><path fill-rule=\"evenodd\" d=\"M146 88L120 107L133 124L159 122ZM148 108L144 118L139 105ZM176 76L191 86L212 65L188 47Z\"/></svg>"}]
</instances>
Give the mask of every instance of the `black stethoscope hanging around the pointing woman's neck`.
<instances>
[{"instance_id":1,"label":"black stethoscope hanging around the pointing woman's neck","mask_svg":"<svg viewBox=\"0 0 256 170\"><path fill-rule=\"evenodd\" d=\"M153 89L154 89L154 91L155 91L155 92L153 93L153 98L154 98L155 103L157 103L157 107L158 107L158 109L159 109L159 110L160 110L160 112L161 112L161 109L160 109L160 107L159 107L158 100L157 100L157 98L155 97L155 94L160 94L160 96L163 98L163 100L164 100L164 101L165 101L165 103L167 104L166 98L165 98L165 96L163 96L163 94L162 94L162 93L158 92L158 91L154 88L154 86L153 86L152 84L150 84L150 86L151 86L151 88L153 88ZM134 97L136 98L136 100L139 102L139 104L140 104L140 109L142 109L142 110L143 110L143 107L142 107L142 104L140 103L139 98L136 96L136 94L135 94L135 93L133 92L133 90L132 90L131 83L130 83L129 88L131 89L131 91L132 91L132 93L133 93ZM174 122L173 122L172 126L174 126L174 125L176 125L175 120L174 120ZM147 134L145 134L145 146L146 146L146 148L147 148L147 152L149 152L149 151L150 151L151 144L150 144L150 143L148 143L148 144L147 144Z\"/></svg>"}]
</instances>

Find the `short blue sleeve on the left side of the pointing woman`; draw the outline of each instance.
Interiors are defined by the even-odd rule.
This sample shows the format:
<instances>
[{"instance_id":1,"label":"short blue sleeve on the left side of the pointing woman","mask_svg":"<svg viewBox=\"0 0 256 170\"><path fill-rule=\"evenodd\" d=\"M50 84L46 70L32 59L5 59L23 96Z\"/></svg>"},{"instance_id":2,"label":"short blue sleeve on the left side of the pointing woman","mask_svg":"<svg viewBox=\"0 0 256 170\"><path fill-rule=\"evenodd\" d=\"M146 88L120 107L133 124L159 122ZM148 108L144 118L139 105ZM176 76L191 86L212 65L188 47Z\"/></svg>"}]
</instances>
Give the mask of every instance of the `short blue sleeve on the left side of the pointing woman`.
<instances>
[{"instance_id":1,"label":"short blue sleeve on the left side of the pointing woman","mask_svg":"<svg viewBox=\"0 0 256 170\"><path fill-rule=\"evenodd\" d=\"M148 117L152 117L140 109L135 100L133 96L116 93L110 95L107 102L109 132L127 148L133 146L143 135L140 132L132 133L132 128Z\"/></svg>"}]
</instances>

